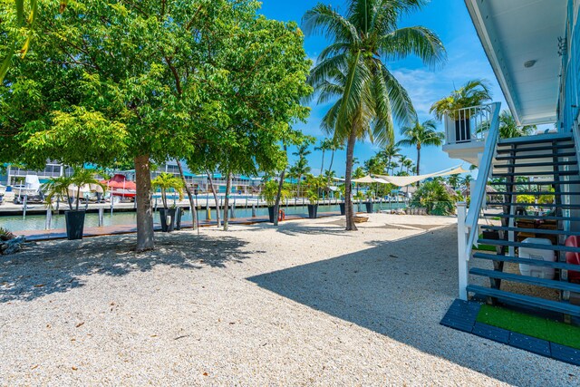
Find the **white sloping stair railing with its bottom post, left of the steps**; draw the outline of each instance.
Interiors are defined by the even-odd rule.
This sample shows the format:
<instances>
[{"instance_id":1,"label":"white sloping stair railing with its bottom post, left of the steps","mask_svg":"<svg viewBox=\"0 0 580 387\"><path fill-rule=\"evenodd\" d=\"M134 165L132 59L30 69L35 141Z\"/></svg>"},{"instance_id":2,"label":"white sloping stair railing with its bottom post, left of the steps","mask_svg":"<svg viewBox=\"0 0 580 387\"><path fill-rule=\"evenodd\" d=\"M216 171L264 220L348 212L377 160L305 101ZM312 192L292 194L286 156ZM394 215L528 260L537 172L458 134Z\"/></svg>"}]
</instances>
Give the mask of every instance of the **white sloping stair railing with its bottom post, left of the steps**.
<instances>
[{"instance_id":1,"label":"white sloping stair railing with its bottom post, left of the steps","mask_svg":"<svg viewBox=\"0 0 580 387\"><path fill-rule=\"evenodd\" d=\"M473 244L478 237L478 221L481 208L486 197L488 178L492 171L492 163L496 156L499 140L499 111L500 102L478 106L481 110L490 110L490 121L486 133L486 142L483 154L479 160L478 179L475 188L471 191L471 201L466 216L465 203L458 203L458 247L459 247L459 298L467 300L468 262L471 257Z\"/></svg>"}]
</instances>

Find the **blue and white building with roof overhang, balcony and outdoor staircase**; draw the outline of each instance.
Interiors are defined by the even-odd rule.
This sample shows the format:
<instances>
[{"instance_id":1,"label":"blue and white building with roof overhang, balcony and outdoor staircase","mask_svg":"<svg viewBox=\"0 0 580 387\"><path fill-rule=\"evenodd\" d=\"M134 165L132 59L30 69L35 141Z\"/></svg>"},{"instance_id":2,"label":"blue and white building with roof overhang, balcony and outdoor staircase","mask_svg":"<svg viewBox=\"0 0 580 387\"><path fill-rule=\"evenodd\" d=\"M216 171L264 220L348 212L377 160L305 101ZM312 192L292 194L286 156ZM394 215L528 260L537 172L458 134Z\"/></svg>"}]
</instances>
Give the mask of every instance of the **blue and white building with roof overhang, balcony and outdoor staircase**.
<instances>
[{"instance_id":1,"label":"blue and white building with roof overhang, balcony and outdoor staircase","mask_svg":"<svg viewBox=\"0 0 580 387\"><path fill-rule=\"evenodd\" d=\"M458 208L459 297L484 297L577 323L580 1L465 4L517 124L550 124L557 132L500 139L502 107L497 102L466 107L446 118L443 150L478 165L469 211L461 204ZM482 124L487 125L482 132L464 136L458 131ZM486 205L487 185L500 191L501 203ZM481 212L487 220L480 218ZM501 224L493 224L492 217ZM497 254L474 250L474 244L494 246ZM486 282L488 286L482 285Z\"/></svg>"}]
</instances>

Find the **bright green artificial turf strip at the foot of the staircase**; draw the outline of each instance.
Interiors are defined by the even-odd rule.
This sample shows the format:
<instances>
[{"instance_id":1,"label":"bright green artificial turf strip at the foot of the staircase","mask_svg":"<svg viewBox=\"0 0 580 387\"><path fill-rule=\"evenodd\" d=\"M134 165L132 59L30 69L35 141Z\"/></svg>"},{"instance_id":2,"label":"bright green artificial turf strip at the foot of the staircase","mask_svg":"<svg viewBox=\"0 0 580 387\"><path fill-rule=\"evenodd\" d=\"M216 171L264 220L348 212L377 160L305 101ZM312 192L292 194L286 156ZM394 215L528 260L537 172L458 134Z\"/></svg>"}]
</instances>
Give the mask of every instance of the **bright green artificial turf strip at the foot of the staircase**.
<instances>
[{"instance_id":1,"label":"bright green artificial turf strip at the foot of the staircase","mask_svg":"<svg viewBox=\"0 0 580 387\"><path fill-rule=\"evenodd\" d=\"M580 327L575 325L559 323L490 305L481 305L477 321L518 334L527 334L548 342L580 349Z\"/></svg>"}]
</instances>

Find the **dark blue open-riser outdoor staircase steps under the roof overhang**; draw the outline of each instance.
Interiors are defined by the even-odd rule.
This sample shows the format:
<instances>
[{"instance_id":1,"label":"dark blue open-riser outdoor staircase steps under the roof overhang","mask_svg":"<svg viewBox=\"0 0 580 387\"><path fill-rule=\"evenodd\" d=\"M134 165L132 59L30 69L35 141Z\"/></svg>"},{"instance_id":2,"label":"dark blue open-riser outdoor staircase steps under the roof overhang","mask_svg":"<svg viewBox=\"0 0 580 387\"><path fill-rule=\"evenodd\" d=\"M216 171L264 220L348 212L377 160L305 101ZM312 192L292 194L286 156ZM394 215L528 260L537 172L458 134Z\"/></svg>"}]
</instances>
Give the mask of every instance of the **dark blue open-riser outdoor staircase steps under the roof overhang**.
<instances>
[{"instance_id":1,"label":"dark blue open-riser outdoor staircase steps under the roof overhang","mask_svg":"<svg viewBox=\"0 0 580 387\"><path fill-rule=\"evenodd\" d=\"M580 205L570 203L571 198L580 195L580 189L576 191L574 188L574 186L580 185L574 138L572 135L547 134L498 140L492 162L491 177L494 178L494 181L490 184L499 189L497 195L503 197L503 200L500 200L499 203L488 204L488 212L484 213L484 217L488 218L488 225L481 226L480 229L491 232L498 238L479 238L478 244L496 247L496 254L477 251L472 258L476 261L491 261L493 269L473 267L477 265L472 265L469 274L488 278L489 287L468 283L467 292L485 296L489 302L500 301L562 313L566 316L580 317L580 305L569 303L571 292L580 294L580 285L569 283L567 280L568 270L580 271L580 269L579 266L566 264L565 261L566 252L580 253L579 247L565 246L566 237L580 236L579 232L566 231L569 229L570 222L580 221L580 217L571 216L571 210L580 209ZM534 181L530 183L524 181L525 178L534 179ZM530 189L531 186L540 189L533 191ZM552 192L550 188L554 191ZM548 208L550 211L547 215L539 216L531 214L532 208L537 206L536 203L518 203L518 195L534 195L536 197L538 195L553 195L555 199L553 203L540 206ZM494 208L496 210L499 208L498 212L494 211ZM500 218L501 224L494 225L491 218ZM553 229L541 229L541 232L538 233L542 236L552 237L553 241L556 242L552 246L525 244L523 241L518 241L517 234L529 233L531 228L518 227L517 219L538 218L552 222ZM479 222L481 223L481 220ZM470 232L474 233L473 230ZM556 261L521 258L516 254L516 249L520 247L554 251ZM467 247L467 251L469 254L470 246ZM467 259L469 260L469 256ZM554 268L556 277L555 279L545 279L522 276L519 272L517 274L507 273L504 271L506 263ZM547 299L536 295L507 291L505 290L507 286L502 286L504 281L555 289L559 292L559 297L557 300Z\"/></svg>"}]
</instances>

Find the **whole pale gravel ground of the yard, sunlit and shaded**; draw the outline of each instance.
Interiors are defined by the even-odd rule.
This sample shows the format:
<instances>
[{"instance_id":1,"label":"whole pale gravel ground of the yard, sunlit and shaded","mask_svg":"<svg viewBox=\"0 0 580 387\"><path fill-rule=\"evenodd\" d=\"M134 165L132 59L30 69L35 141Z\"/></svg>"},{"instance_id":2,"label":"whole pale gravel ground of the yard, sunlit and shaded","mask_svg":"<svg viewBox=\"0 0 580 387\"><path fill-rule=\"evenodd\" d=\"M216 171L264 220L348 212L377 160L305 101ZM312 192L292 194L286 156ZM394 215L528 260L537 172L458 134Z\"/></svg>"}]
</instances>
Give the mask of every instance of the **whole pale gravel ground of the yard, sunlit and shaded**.
<instances>
[{"instance_id":1,"label":"whole pale gravel ground of the yard, sunlit and shaded","mask_svg":"<svg viewBox=\"0 0 580 387\"><path fill-rule=\"evenodd\" d=\"M3 385L578 385L443 327L453 218L374 214L46 242L0 261Z\"/></svg>"}]
</instances>

